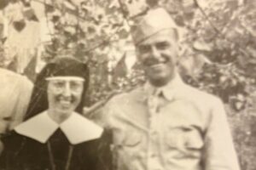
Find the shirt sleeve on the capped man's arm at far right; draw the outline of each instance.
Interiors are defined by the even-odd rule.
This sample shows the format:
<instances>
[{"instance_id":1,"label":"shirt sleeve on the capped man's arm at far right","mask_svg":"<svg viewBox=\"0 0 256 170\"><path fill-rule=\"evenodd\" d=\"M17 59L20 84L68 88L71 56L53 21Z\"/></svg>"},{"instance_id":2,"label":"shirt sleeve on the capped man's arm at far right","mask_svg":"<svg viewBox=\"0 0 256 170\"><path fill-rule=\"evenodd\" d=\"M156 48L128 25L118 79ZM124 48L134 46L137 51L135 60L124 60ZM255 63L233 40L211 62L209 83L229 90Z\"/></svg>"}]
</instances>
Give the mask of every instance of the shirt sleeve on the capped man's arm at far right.
<instances>
[{"instance_id":1,"label":"shirt sleeve on the capped man's arm at far right","mask_svg":"<svg viewBox=\"0 0 256 170\"><path fill-rule=\"evenodd\" d=\"M205 135L205 170L239 170L223 103L214 102Z\"/></svg>"}]
</instances>

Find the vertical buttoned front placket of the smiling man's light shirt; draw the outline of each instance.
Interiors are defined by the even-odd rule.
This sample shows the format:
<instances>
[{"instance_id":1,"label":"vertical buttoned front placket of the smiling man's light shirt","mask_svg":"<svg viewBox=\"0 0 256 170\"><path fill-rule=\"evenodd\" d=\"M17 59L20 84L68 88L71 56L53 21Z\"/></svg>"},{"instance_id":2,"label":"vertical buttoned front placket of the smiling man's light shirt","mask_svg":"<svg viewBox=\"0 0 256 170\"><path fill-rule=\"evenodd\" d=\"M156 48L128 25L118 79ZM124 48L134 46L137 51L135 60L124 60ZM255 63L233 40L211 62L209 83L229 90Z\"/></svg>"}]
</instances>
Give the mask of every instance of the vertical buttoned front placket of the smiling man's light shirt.
<instances>
[{"instance_id":1,"label":"vertical buttoned front placket of the smiling man's light shirt","mask_svg":"<svg viewBox=\"0 0 256 170\"><path fill-rule=\"evenodd\" d=\"M148 152L147 167L148 170L162 170L159 156L159 113L158 113L158 96L152 95L148 97Z\"/></svg>"}]
</instances>

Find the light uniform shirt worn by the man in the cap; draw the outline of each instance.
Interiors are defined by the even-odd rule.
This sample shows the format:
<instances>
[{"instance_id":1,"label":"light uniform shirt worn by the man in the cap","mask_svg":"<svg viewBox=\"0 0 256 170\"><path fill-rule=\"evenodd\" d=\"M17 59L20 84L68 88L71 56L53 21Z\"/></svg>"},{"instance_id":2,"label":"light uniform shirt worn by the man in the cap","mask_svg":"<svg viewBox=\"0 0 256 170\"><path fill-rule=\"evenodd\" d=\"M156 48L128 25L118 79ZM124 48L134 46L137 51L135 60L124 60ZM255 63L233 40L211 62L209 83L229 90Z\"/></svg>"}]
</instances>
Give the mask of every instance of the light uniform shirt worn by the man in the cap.
<instances>
[{"instance_id":1,"label":"light uniform shirt worn by the man in the cap","mask_svg":"<svg viewBox=\"0 0 256 170\"><path fill-rule=\"evenodd\" d=\"M110 100L106 126L113 132L118 170L238 170L224 105L176 77L148 106L146 84Z\"/></svg>"}]
</instances>

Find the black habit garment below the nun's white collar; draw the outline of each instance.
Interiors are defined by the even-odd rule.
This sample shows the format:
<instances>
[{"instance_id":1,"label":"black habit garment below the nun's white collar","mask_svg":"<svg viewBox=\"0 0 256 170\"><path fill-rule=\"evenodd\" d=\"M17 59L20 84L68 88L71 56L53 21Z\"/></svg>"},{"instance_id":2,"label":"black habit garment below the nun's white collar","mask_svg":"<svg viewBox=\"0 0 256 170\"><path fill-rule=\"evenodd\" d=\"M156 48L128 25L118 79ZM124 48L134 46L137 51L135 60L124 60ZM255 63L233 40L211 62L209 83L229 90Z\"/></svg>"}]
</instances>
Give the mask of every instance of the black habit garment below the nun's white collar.
<instances>
[{"instance_id":1,"label":"black habit garment below the nun's white collar","mask_svg":"<svg viewBox=\"0 0 256 170\"><path fill-rule=\"evenodd\" d=\"M47 125L45 125L47 126ZM1 170L111 170L110 136L71 144L58 127L41 143L15 130L2 138Z\"/></svg>"}]
</instances>

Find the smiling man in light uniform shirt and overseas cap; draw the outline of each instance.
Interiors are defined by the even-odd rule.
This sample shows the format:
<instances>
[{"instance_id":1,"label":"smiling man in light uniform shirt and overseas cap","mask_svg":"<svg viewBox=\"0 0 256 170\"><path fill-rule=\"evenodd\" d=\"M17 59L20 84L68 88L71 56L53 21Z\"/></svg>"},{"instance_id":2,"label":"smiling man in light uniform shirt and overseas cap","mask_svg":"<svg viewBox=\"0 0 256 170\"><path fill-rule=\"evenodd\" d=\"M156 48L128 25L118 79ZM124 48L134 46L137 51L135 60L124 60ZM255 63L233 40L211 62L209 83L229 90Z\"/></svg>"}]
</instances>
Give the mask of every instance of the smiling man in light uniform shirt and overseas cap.
<instances>
[{"instance_id":1,"label":"smiling man in light uniform shirt and overseas cap","mask_svg":"<svg viewBox=\"0 0 256 170\"><path fill-rule=\"evenodd\" d=\"M224 105L183 83L177 73L178 29L162 8L132 29L143 87L106 105L118 170L238 170Z\"/></svg>"}]
</instances>

